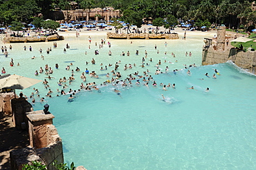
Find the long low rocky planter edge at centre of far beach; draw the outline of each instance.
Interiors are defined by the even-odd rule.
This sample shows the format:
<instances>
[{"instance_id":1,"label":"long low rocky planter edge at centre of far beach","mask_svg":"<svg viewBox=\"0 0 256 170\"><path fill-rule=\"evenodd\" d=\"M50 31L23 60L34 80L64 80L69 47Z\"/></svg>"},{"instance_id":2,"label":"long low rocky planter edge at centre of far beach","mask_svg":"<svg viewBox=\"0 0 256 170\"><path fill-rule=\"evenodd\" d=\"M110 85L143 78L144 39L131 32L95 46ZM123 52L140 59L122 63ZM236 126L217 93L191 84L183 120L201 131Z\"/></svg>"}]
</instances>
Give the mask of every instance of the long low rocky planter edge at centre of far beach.
<instances>
[{"instance_id":1,"label":"long low rocky planter edge at centre of far beach","mask_svg":"<svg viewBox=\"0 0 256 170\"><path fill-rule=\"evenodd\" d=\"M107 32L108 39L179 39L179 34L148 34L148 33L130 33L117 34Z\"/></svg>"}]
</instances>

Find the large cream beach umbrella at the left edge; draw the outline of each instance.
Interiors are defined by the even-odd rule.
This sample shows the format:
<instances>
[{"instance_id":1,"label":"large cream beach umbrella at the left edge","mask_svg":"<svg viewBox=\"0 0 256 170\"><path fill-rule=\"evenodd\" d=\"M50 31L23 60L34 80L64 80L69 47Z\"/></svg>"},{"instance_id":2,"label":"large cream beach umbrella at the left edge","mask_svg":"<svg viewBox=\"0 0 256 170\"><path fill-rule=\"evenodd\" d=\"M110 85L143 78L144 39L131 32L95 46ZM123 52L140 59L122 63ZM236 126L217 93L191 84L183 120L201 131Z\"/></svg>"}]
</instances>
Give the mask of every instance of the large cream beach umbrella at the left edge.
<instances>
[{"instance_id":1,"label":"large cream beach umbrella at the left edge","mask_svg":"<svg viewBox=\"0 0 256 170\"><path fill-rule=\"evenodd\" d=\"M6 78L0 79L0 89L26 89L32 85L41 82L35 78L28 78L12 74Z\"/></svg>"}]
</instances>

